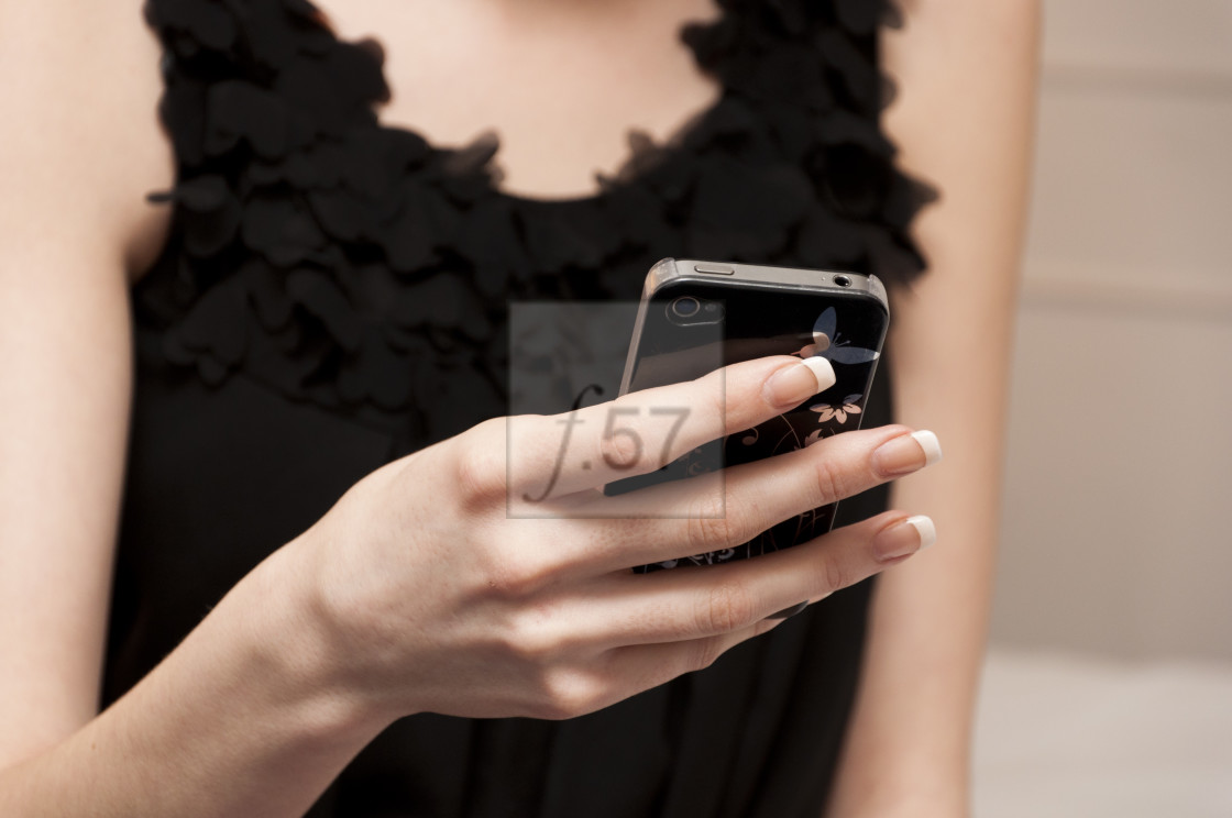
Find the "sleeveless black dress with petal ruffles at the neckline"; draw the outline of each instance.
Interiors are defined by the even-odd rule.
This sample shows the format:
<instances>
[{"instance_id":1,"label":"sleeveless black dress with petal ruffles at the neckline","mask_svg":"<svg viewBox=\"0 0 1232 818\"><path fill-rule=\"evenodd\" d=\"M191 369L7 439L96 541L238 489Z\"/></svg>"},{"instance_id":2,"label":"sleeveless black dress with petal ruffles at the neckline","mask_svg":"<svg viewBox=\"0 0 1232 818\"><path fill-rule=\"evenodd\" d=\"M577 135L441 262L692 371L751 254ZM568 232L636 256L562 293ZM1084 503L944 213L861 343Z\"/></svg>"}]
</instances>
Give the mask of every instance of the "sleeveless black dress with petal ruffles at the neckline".
<instances>
[{"instance_id":1,"label":"sleeveless black dress with petal ruffles at the neckline","mask_svg":"<svg viewBox=\"0 0 1232 818\"><path fill-rule=\"evenodd\" d=\"M505 414L506 304L636 299L663 256L904 285L928 191L897 172L873 0L722 0L683 32L722 99L601 193L503 195L493 139L379 123L381 49L307 0L150 0L177 181L133 291L137 387L105 700L377 467ZM665 32L664 36L669 36ZM887 368L866 425L890 419ZM883 508L845 501L840 524ZM424 715L312 816L816 817L869 583L711 669L568 722ZM225 702L219 703L221 707ZM185 740L191 740L186 737Z\"/></svg>"}]
</instances>

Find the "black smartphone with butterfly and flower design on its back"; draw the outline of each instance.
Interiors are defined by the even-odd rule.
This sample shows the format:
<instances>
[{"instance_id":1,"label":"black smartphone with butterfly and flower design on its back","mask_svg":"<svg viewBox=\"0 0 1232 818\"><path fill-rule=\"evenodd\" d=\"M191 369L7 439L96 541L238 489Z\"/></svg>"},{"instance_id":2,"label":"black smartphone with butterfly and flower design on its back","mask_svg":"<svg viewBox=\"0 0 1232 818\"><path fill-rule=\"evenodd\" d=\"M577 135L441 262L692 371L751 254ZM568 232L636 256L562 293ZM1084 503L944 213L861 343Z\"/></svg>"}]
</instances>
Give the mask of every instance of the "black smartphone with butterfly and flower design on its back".
<instances>
[{"instance_id":1,"label":"black smartphone with butterfly and flower design on its back","mask_svg":"<svg viewBox=\"0 0 1232 818\"><path fill-rule=\"evenodd\" d=\"M685 479L859 429L888 325L886 288L876 276L664 259L646 278L621 394L690 381L768 355L823 356L837 382L772 420L701 446L649 474L611 483L605 492ZM829 531L835 506L786 520L737 548L636 570L722 563L786 548Z\"/></svg>"}]
</instances>

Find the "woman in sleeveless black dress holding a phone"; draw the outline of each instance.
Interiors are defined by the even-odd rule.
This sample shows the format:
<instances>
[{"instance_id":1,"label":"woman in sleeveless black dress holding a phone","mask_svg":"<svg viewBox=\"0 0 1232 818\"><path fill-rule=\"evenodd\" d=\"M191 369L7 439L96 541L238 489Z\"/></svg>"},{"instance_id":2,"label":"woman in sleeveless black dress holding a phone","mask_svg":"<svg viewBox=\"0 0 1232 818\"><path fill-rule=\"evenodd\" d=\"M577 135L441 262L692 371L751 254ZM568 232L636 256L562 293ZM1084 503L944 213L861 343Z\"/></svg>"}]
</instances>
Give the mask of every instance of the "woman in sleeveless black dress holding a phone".
<instances>
[{"instance_id":1,"label":"woman in sleeveless black dress holding a phone","mask_svg":"<svg viewBox=\"0 0 1232 818\"><path fill-rule=\"evenodd\" d=\"M156 39L136 6L0 11L6 814L963 814L1034 4L906 4L880 52L882 9L840 0L324 10L154 0ZM941 191L909 288L878 53ZM485 128L495 163L440 147ZM506 519L501 306L636 296L686 251L890 280L910 426L883 398L733 471L724 525ZM729 430L823 375L733 367ZM622 570L917 471L912 427L947 450L896 488L924 556L864 495L779 554Z\"/></svg>"}]
</instances>

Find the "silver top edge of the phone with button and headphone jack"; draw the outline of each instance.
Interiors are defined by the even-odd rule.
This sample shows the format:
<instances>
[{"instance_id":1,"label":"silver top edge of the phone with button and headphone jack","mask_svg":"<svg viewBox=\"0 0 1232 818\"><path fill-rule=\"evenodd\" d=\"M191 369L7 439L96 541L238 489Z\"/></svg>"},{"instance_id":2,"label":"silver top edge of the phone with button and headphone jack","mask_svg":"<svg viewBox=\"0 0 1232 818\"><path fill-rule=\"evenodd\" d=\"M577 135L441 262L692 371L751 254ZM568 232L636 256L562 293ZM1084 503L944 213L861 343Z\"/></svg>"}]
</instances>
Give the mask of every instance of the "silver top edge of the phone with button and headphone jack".
<instances>
[{"instance_id":1,"label":"silver top edge of the phone with button and headphone jack","mask_svg":"<svg viewBox=\"0 0 1232 818\"><path fill-rule=\"evenodd\" d=\"M731 270L731 272L700 272L705 270ZM834 283L837 277L846 277L851 283L841 287ZM890 298L881 278L845 270L809 270L804 267L776 267L770 265L742 264L736 261L701 261L695 259L663 259L653 267L646 278L644 298L649 299L669 283L696 281L710 285L739 282L742 286L797 288L807 292L824 292L843 296L865 296L873 298L890 314Z\"/></svg>"}]
</instances>

